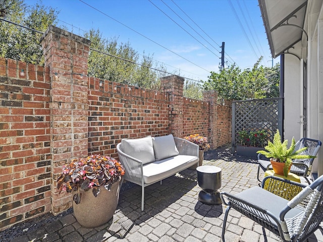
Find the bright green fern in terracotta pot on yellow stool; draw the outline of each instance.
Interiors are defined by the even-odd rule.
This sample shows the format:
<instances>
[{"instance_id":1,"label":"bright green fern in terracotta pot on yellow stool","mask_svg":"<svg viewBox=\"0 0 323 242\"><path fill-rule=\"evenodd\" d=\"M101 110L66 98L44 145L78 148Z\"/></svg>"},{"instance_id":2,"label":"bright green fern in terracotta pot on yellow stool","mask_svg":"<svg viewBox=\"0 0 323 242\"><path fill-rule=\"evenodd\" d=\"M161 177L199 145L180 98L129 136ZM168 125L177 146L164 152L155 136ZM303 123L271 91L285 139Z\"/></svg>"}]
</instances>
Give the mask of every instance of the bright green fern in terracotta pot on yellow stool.
<instances>
[{"instance_id":1,"label":"bright green fern in terracotta pot on yellow stool","mask_svg":"<svg viewBox=\"0 0 323 242\"><path fill-rule=\"evenodd\" d=\"M296 142L293 137L292 144L287 148L288 140L281 142L281 135L277 130L273 142L268 141L268 145L264 147L265 150L257 151L267 158L270 158L274 172L279 175L287 177L294 159L308 159L313 158L311 155L304 154L307 147L295 150Z\"/></svg>"}]
</instances>

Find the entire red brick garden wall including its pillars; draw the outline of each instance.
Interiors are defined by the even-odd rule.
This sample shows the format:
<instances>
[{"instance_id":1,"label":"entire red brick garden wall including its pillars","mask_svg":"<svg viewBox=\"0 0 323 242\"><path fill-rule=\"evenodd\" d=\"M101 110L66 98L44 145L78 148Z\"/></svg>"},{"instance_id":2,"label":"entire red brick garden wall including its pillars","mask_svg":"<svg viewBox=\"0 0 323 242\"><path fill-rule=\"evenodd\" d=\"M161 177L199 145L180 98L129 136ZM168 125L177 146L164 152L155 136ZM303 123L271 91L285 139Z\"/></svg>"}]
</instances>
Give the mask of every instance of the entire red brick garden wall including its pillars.
<instances>
[{"instance_id":1,"label":"entire red brick garden wall including its pillars","mask_svg":"<svg viewBox=\"0 0 323 242\"><path fill-rule=\"evenodd\" d=\"M123 138L199 133L211 148L230 143L231 107L217 105L216 92L183 98L178 76L162 78L159 91L87 77L89 44L50 26L45 68L0 57L0 230L71 207L56 190L62 165L94 153L118 158Z\"/></svg>"}]
</instances>

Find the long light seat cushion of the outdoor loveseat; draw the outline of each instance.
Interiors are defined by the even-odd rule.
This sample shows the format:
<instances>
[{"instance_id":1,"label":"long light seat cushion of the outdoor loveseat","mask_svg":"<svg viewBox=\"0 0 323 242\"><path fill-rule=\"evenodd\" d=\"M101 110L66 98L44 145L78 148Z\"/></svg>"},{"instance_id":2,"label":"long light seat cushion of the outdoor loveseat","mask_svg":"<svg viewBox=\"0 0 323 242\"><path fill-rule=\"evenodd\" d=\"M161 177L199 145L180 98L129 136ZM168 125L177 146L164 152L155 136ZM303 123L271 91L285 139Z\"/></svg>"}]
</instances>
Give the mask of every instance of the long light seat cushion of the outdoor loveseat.
<instances>
[{"instance_id":1,"label":"long light seat cushion of the outdoor loveseat","mask_svg":"<svg viewBox=\"0 0 323 242\"><path fill-rule=\"evenodd\" d=\"M158 160L143 166L145 184L152 184L197 163L198 158L192 155L177 155Z\"/></svg>"}]
</instances>

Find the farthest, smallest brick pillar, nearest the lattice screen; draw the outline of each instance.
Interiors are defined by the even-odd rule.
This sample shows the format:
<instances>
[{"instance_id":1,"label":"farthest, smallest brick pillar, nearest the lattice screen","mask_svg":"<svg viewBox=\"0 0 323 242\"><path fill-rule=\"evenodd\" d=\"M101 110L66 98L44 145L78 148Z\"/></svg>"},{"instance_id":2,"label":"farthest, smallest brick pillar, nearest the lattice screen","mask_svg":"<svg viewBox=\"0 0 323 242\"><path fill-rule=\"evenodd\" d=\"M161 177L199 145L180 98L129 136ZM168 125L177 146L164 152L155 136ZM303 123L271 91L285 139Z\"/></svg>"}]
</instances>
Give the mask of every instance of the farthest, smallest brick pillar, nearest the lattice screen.
<instances>
[{"instance_id":1,"label":"farthest, smallest brick pillar, nearest the lattice screen","mask_svg":"<svg viewBox=\"0 0 323 242\"><path fill-rule=\"evenodd\" d=\"M203 100L209 103L210 149L218 148L218 92L216 90L203 91Z\"/></svg>"}]
</instances>

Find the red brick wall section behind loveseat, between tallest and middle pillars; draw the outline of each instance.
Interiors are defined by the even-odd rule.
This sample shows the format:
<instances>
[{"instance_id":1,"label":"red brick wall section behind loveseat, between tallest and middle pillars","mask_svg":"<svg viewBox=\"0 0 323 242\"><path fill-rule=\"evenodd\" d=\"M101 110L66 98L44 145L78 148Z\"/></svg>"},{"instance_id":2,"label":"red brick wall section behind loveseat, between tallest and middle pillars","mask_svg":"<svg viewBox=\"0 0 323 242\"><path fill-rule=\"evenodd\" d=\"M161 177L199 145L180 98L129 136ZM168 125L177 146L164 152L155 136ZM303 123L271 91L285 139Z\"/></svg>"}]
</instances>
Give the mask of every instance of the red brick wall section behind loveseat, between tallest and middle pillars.
<instances>
[{"instance_id":1,"label":"red brick wall section behind loveseat, between tallest and middle pillars","mask_svg":"<svg viewBox=\"0 0 323 242\"><path fill-rule=\"evenodd\" d=\"M88 105L90 154L117 157L121 139L169 134L168 95L159 91L89 78Z\"/></svg>"}]
</instances>

